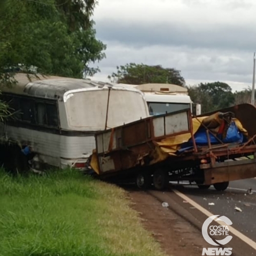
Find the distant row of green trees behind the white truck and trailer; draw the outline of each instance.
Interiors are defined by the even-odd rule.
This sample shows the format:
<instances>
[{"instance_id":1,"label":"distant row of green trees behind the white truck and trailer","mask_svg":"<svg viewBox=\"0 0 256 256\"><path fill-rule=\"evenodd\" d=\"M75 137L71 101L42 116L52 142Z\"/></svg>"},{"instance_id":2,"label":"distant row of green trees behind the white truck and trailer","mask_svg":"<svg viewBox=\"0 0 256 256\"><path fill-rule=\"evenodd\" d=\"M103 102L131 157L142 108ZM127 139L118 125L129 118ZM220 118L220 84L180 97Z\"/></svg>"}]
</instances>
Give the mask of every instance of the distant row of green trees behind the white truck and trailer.
<instances>
[{"instance_id":1,"label":"distant row of green trees behind the white truck and trailer","mask_svg":"<svg viewBox=\"0 0 256 256\"><path fill-rule=\"evenodd\" d=\"M230 107L241 103L251 103L252 91L247 88L232 92L230 85L223 82L200 83L186 86L179 70L164 68L161 65L130 63L117 66L117 71L108 76L112 82L123 84L174 84L188 88L192 102L201 104L202 113Z\"/></svg>"}]
</instances>

